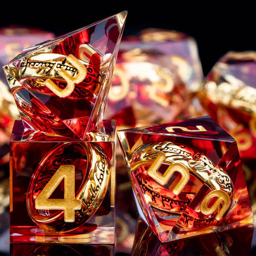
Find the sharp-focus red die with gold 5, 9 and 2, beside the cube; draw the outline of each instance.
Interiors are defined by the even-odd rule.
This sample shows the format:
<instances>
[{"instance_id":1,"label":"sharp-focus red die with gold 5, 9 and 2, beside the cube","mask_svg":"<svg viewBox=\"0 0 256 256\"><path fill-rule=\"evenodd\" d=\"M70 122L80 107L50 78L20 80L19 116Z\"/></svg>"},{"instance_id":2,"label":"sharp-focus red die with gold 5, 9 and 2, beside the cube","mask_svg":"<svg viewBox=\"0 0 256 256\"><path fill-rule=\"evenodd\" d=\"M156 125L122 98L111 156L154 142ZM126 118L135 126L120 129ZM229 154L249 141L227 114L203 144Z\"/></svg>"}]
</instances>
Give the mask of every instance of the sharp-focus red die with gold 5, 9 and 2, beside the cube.
<instances>
[{"instance_id":1,"label":"sharp-focus red die with gold 5, 9 and 2, beside the cube","mask_svg":"<svg viewBox=\"0 0 256 256\"><path fill-rule=\"evenodd\" d=\"M209 117L118 136L140 215L161 242L253 221L236 141Z\"/></svg>"}]
</instances>

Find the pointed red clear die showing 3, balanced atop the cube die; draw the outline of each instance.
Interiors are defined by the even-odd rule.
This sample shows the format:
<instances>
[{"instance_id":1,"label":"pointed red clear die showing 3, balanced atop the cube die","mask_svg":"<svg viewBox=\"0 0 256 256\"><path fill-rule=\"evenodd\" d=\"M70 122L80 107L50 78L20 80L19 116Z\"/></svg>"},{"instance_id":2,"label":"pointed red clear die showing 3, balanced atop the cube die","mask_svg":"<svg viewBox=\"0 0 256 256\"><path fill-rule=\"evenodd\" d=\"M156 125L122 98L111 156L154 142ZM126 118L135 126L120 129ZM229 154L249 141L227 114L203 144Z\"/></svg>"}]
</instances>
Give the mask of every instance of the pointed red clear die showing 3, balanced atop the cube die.
<instances>
[{"instance_id":1,"label":"pointed red clear die showing 3, balanced atop the cube die","mask_svg":"<svg viewBox=\"0 0 256 256\"><path fill-rule=\"evenodd\" d=\"M83 140L102 121L126 14L26 49L4 67L26 128Z\"/></svg>"}]
</instances>

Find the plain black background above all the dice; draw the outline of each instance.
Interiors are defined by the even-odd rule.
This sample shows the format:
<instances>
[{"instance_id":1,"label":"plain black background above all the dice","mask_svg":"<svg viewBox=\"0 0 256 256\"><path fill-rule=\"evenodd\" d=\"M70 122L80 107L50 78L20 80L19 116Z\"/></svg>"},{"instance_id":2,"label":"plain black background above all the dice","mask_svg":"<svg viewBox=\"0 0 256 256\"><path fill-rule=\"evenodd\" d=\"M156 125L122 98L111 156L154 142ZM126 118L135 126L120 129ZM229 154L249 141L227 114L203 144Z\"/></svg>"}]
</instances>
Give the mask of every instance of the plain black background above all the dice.
<instances>
[{"instance_id":1,"label":"plain black background above all the dice","mask_svg":"<svg viewBox=\"0 0 256 256\"><path fill-rule=\"evenodd\" d=\"M18 24L51 31L56 36L128 11L123 36L154 27L195 38L204 75L227 51L256 50L256 13L252 2L226 1L29 1L1 3L0 26Z\"/></svg>"}]
</instances>

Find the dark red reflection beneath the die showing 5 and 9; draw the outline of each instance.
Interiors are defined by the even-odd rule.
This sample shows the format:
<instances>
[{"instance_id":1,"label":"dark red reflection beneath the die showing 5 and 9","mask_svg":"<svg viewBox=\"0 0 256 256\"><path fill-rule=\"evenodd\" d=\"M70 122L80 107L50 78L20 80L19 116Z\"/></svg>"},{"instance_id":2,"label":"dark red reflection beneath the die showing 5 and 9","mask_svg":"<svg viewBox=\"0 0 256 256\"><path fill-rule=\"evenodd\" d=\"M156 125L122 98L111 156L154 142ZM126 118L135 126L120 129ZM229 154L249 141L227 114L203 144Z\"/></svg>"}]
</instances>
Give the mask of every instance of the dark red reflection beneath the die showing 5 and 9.
<instances>
[{"instance_id":1,"label":"dark red reflection beneath the die showing 5 and 9","mask_svg":"<svg viewBox=\"0 0 256 256\"><path fill-rule=\"evenodd\" d=\"M249 224L232 230L162 244L146 223L139 219L132 256L249 255L253 232L254 225Z\"/></svg>"}]
</instances>

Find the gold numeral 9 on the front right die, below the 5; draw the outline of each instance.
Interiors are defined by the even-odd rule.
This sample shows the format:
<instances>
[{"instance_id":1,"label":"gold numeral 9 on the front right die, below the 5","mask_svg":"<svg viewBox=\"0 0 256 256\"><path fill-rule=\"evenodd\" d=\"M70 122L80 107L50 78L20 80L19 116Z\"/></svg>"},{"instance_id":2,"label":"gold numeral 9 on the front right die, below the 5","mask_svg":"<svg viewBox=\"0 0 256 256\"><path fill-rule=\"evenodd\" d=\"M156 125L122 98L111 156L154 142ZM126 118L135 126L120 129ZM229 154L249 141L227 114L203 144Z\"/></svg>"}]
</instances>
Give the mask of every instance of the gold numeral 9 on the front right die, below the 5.
<instances>
[{"instance_id":1,"label":"gold numeral 9 on the front right die, below the 5","mask_svg":"<svg viewBox=\"0 0 256 256\"><path fill-rule=\"evenodd\" d=\"M218 199L214 202L211 207L208 207L207 204L213 197L218 197ZM230 206L230 197L229 195L222 190L214 190L211 191L201 202L201 212L205 215L210 215L214 213L219 205L221 204L221 209L219 210L218 214L216 215L215 219L219 220L225 214Z\"/></svg>"}]
</instances>

